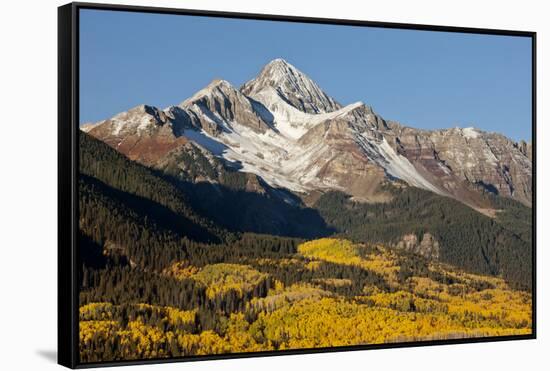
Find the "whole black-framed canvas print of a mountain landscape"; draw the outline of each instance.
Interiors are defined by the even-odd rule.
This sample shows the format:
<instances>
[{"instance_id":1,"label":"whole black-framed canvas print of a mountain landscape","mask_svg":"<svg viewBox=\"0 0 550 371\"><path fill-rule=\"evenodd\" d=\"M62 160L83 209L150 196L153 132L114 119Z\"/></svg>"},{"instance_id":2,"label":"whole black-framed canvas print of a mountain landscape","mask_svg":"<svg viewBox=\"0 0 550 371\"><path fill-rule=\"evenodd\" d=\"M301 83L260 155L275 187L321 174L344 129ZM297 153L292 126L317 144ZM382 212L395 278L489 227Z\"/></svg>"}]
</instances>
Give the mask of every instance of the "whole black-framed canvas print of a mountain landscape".
<instances>
[{"instance_id":1,"label":"whole black-framed canvas print of a mountain landscape","mask_svg":"<svg viewBox=\"0 0 550 371\"><path fill-rule=\"evenodd\" d=\"M58 15L60 364L535 338L534 32Z\"/></svg>"}]
</instances>

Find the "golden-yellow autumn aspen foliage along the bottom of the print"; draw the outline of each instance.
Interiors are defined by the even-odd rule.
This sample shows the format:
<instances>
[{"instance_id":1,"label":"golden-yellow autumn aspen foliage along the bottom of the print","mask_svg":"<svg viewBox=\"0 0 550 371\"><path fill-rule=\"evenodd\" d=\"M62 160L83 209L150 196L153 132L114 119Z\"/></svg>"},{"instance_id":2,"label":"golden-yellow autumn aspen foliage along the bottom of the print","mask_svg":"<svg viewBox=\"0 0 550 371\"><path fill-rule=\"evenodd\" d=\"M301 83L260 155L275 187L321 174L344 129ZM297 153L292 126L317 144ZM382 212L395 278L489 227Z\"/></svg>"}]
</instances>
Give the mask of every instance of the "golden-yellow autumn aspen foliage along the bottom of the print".
<instances>
[{"instance_id":1,"label":"golden-yellow autumn aspen foliage along the bottom of the print","mask_svg":"<svg viewBox=\"0 0 550 371\"><path fill-rule=\"evenodd\" d=\"M405 263L406 262L406 263ZM415 262L414 264L411 262ZM298 348L471 338L531 332L531 294L512 290L498 277L466 273L405 256L384 246L320 239L298 246L291 258L258 258L249 264L203 267L180 262L161 274L204 287L195 309L143 303L89 303L80 307L83 361L162 358ZM323 264L383 277L365 281L357 295L339 290L350 278L307 279L285 285L275 268ZM262 267L266 272L262 272ZM268 269L269 267L269 269ZM300 268L301 267L301 268ZM353 268L352 268L353 267ZM350 276L352 277L352 276ZM369 276L367 276L369 277ZM376 282L376 281L373 281ZM213 303L240 303L224 311ZM210 304L209 304L210 303ZM205 308L216 317L205 326Z\"/></svg>"}]
</instances>

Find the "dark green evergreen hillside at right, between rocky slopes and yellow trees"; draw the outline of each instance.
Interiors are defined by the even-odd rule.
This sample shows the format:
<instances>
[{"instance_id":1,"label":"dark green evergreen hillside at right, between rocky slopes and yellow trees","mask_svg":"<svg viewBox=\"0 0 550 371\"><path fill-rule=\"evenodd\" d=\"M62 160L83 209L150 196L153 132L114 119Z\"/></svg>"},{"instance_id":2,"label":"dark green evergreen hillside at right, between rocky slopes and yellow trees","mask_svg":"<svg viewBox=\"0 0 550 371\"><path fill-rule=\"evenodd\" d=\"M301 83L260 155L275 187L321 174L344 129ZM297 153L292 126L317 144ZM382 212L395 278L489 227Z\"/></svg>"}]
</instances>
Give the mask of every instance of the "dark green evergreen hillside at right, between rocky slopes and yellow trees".
<instances>
[{"instance_id":1,"label":"dark green evergreen hillside at right, between rocky slopes and yellow trees","mask_svg":"<svg viewBox=\"0 0 550 371\"><path fill-rule=\"evenodd\" d=\"M418 188L392 190L388 203L354 202L330 192L315 204L343 236L357 242L397 244L404 235L430 233L439 241L440 260L459 268L501 275L520 288L531 287L531 210L494 198L502 210L489 218L448 197Z\"/></svg>"}]
</instances>

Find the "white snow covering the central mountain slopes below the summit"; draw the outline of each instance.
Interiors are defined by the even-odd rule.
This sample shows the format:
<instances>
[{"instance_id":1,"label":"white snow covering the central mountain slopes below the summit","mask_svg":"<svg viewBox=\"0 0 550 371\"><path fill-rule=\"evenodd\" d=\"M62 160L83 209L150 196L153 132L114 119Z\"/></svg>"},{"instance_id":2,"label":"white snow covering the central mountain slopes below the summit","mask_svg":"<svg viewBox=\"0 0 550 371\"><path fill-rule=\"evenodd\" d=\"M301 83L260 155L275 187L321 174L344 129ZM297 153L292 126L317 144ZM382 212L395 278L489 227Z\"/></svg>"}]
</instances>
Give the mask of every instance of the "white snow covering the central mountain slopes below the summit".
<instances>
[{"instance_id":1,"label":"white snow covering the central mountain slopes below the summit","mask_svg":"<svg viewBox=\"0 0 550 371\"><path fill-rule=\"evenodd\" d=\"M373 122L376 122L372 110L362 102L357 102L335 111L307 113L288 104L271 86L258 92L256 98L257 101L250 100L242 93L234 91L229 83L215 81L185 100L179 107L186 110L189 116L196 115L201 117L200 120L216 125L219 130L200 124L199 127L194 125L186 129L182 135L224 158L241 171L262 177L272 186L296 192L317 188L345 190L345 186L340 184L345 175L327 171L328 167L334 166L334 153L340 149L325 141L323 136L315 138L319 142L311 145L300 141L300 138L319 124L344 120L351 125L344 126L342 132L333 134L345 137L343 140L349 139L352 146L361 146L365 139L356 138L360 137L361 131L372 127ZM224 106L228 106L227 102L231 102L231 114L222 112ZM238 118L245 116L245 113L244 119ZM266 130L255 130L246 124L246 118L250 118L252 113L263 119L268 117L265 119L268 125ZM378 145L379 143L376 146ZM394 157L391 157L392 152ZM407 179L421 179L415 181L414 185L427 188L428 182L419 174L416 178L411 175L414 167L410 163L406 168L408 172L403 170L407 160L399 158L391 148L385 151L377 149L375 153L363 151L362 156L379 166L390 166L388 174L396 178L403 173L409 176ZM392 167L391 164L396 160L398 163ZM402 170L401 173L399 169Z\"/></svg>"}]
</instances>

